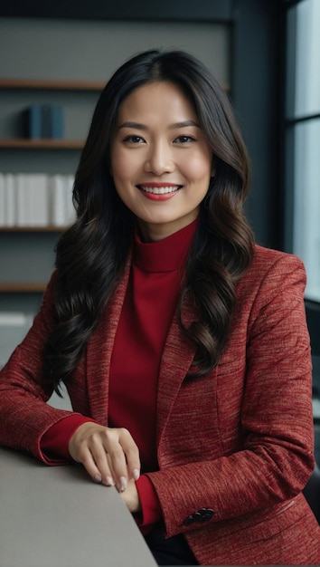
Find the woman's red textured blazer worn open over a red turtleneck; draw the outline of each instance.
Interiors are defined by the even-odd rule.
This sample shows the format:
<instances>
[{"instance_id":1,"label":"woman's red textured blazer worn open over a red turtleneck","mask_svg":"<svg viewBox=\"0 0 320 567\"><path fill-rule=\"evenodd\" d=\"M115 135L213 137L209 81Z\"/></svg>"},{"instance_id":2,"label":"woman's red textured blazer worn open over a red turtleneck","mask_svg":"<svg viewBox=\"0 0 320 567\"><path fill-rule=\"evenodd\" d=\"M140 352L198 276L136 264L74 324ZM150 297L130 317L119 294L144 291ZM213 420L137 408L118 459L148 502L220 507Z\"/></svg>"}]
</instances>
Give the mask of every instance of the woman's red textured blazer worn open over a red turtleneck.
<instances>
[{"instance_id":1,"label":"woman's red textured blazer worn open over a red turtleneck","mask_svg":"<svg viewBox=\"0 0 320 567\"><path fill-rule=\"evenodd\" d=\"M104 425L129 267L130 260L68 384L74 411ZM184 382L194 349L174 316L158 382L160 470L148 477L166 535L184 533L201 564L320 562L320 528L301 494L314 467L305 284L295 256L257 246L237 286L227 348L218 367L198 380ZM193 316L186 305L184 322ZM40 439L70 413L43 403L52 393L39 378L51 325L49 284L33 328L0 375L0 444L54 465Z\"/></svg>"}]
</instances>

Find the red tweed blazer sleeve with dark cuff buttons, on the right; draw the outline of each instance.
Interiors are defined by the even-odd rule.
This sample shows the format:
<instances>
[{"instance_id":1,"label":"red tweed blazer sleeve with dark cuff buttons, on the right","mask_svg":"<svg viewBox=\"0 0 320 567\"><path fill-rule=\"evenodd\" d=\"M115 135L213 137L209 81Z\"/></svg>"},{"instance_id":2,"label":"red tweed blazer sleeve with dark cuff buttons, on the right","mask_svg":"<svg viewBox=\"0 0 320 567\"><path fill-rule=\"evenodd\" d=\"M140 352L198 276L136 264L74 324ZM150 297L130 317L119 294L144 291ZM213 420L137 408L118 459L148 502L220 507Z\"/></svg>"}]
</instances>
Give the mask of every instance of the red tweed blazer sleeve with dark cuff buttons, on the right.
<instances>
[{"instance_id":1,"label":"red tweed blazer sleeve with dark cuff buttons, on the right","mask_svg":"<svg viewBox=\"0 0 320 567\"><path fill-rule=\"evenodd\" d=\"M240 450L147 474L167 536L294 497L314 468L305 269L295 256L277 255L268 269L261 263L255 270L243 284L250 290L255 281L256 292L244 306L247 329L239 337L247 343ZM196 513L203 515L199 522L193 521Z\"/></svg>"}]
</instances>

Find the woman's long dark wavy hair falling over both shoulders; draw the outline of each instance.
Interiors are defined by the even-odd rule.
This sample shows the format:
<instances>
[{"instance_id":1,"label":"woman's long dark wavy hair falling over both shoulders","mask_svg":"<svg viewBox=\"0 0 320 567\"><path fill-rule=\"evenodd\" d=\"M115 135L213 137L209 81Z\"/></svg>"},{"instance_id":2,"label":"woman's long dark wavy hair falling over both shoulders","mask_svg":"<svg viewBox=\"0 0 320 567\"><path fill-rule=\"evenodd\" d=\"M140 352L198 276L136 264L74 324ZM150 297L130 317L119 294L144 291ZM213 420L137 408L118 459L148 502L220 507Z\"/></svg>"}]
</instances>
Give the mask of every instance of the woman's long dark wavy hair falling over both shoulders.
<instances>
[{"instance_id":1,"label":"woman's long dark wavy hair falling over both shoulders","mask_svg":"<svg viewBox=\"0 0 320 567\"><path fill-rule=\"evenodd\" d=\"M250 177L247 150L228 95L202 62L181 51L139 53L115 72L99 97L75 176L77 219L56 247L55 320L44 347L43 379L58 393L124 274L132 242L135 216L118 197L110 175L119 105L138 87L162 81L179 86L193 104L215 166L178 304L180 326L196 346L189 378L212 370L228 340L235 286L248 270L254 249L243 213ZM182 320L187 299L197 313L188 327Z\"/></svg>"}]
</instances>

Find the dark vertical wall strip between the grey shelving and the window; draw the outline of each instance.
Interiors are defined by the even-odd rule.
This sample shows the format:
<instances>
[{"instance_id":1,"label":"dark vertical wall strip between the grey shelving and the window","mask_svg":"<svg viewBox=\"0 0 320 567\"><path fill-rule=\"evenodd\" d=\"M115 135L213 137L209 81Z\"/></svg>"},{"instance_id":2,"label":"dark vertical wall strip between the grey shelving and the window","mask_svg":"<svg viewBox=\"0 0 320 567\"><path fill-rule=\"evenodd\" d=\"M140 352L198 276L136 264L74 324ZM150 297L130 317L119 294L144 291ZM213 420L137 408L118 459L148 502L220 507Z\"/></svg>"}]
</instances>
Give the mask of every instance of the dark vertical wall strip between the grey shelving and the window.
<instances>
[{"instance_id":1,"label":"dark vertical wall strip between the grey shelving and the window","mask_svg":"<svg viewBox=\"0 0 320 567\"><path fill-rule=\"evenodd\" d=\"M252 164L247 213L259 243L281 248L283 22L281 5L239 0L234 14L232 98Z\"/></svg>"}]
</instances>

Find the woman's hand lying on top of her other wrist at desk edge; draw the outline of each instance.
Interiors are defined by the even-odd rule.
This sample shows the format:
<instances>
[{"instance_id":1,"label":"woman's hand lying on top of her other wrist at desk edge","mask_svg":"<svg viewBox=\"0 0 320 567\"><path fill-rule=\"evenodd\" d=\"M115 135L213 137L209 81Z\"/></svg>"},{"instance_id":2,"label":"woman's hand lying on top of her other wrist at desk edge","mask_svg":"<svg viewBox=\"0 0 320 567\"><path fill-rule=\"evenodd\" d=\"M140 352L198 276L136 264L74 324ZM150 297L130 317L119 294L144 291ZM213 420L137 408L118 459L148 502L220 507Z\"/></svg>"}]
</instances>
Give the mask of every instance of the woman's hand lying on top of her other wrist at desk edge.
<instances>
[{"instance_id":1,"label":"woman's hand lying on top of her other wrist at desk edge","mask_svg":"<svg viewBox=\"0 0 320 567\"><path fill-rule=\"evenodd\" d=\"M134 481L140 475L140 458L136 443L127 429L83 423L71 437L69 453L96 482L116 485L122 493L128 481L133 479L130 494L134 492L131 485L135 485Z\"/></svg>"}]
</instances>

